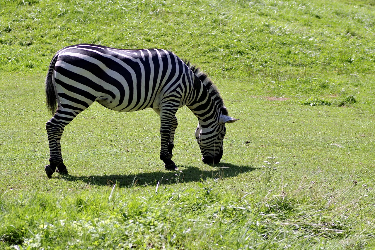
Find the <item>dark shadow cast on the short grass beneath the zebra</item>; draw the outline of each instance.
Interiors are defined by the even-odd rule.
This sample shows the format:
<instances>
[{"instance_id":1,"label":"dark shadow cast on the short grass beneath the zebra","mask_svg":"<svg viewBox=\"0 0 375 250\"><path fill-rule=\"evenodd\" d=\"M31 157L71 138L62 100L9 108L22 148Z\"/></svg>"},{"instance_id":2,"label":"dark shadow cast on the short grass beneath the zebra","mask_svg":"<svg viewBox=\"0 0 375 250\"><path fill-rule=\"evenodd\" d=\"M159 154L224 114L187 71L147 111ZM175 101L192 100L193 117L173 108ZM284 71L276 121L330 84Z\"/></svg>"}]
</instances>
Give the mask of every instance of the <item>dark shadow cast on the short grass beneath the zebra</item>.
<instances>
[{"instance_id":1,"label":"dark shadow cast on the short grass beneath the zebra","mask_svg":"<svg viewBox=\"0 0 375 250\"><path fill-rule=\"evenodd\" d=\"M76 182L86 182L88 185L113 186L115 183L119 187L147 186L147 185L172 185L175 183L199 182L201 180L226 179L240 174L254 171L256 168L228 163L214 164L216 170L201 170L197 167L178 165L177 171L157 171L151 173L139 173L130 175L94 175L94 176L73 176L62 175L59 178ZM224 166L224 167L223 167Z\"/></svg>"}]
</instances>

